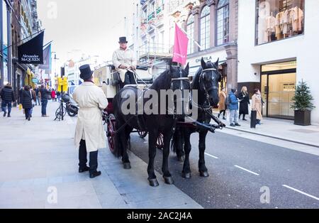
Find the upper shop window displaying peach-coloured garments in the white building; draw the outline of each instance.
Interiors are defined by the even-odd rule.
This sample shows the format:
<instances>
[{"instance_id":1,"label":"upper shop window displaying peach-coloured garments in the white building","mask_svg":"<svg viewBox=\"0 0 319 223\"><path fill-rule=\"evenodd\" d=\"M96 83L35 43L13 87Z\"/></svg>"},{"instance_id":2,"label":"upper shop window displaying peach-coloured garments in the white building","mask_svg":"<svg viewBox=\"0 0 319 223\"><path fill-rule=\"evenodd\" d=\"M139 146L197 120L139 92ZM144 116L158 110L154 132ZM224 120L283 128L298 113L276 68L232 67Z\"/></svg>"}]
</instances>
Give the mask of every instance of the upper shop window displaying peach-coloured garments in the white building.
<instances>
[{"instance_id":1,"label":"upper shop window displaying peach-coloured garments in the white building","mask_svg":"<svg viewBox=\"0 0 319 223\"><path fill-rule=\"evenodd\" d=\"M303 34L305 0L258 0L257 45Z\"/></svg>"}]
</instances>

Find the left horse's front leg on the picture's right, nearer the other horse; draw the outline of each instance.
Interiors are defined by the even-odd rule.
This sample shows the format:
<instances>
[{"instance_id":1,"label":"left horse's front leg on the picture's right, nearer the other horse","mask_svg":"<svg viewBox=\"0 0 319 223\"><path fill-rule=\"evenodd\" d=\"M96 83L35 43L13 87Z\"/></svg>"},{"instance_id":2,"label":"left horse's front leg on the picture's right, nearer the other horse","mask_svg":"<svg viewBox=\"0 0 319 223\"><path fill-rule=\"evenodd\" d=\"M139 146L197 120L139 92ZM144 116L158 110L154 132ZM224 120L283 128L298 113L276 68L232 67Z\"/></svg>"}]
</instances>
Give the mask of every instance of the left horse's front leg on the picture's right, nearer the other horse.
<instances>
[{"instance_id":1,"label":"left horse's front leg on the picture's right, nearer the other horse","mask_svg":"<svg viewBox=\"0 0 319 223\"><path fill-rule=\"evenodd\" d=\"M168 158L169 158L169 143L172 138L172 131L167 131L164 133L164 148L163 148L163 164L162 164L162 172L165 183L168 185L172 185L174 180L172 178L171 173L169 173L168 166Z\"/></svg>"}]
</instances>

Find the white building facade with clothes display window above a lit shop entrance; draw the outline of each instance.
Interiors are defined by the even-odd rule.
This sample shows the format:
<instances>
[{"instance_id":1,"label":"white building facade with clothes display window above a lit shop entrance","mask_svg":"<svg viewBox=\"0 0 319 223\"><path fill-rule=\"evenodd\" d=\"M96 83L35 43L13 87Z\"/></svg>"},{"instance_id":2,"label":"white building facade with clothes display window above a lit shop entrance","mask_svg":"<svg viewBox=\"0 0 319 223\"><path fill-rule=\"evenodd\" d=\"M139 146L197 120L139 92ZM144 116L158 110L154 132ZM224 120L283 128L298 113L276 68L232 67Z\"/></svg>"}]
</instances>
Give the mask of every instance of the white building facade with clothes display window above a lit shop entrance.
<instances>
[{"instance_id":1,"label":"white building facade with clothes display window above a lit shop entrance","mask_svg":"<svg viewBox=\"0 0 319 223\"><path fill-rule=\"evenodd\" d=\"M264 115L293 119L291 98L299 81L310 85L317 107L312 123L319 124L319 1L239 1L238 82L261 89Z\"/></svg>"}]
</instances>

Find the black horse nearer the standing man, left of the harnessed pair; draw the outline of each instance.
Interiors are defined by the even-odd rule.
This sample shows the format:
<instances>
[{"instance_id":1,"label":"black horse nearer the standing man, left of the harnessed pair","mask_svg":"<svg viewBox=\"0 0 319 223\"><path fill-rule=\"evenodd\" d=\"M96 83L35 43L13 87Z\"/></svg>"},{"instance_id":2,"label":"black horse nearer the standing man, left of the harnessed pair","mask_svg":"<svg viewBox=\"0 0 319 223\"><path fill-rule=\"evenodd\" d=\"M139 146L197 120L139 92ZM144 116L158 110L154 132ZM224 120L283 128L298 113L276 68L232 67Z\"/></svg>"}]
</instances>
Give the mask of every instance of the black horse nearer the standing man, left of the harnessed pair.
<instances>
[{"instance_id":1,"label":"black horse nearer the standing man, left of the harnessed pair","mask_svg":"<svg viewBox=\"0 0 319 223\"><path fill-rule=\"evenodd\" d=\"M166 107L162 105L160 98L161 90L188 90L190 91L191 84L189 82L189 65L186 66L185 70L181 69L181 67L172 67L169 65L169 70L166 70L157 77L157 80L153 82L153 85L146 89L145 92L140 92L136 87L125 87L121 89L118 94L113 99L114 104L114 115L116 118L116 130L118 131L116 134L116 146L114 149L114 153L117 157L121 157L123 161L123 165L125 169L130 169L130 160L128 158L128 148L130 141L130 133L133 129L138 129L140 131L147 131L149 133L149 163L147 168L148 180L152 187L156 187L159 185L155 171L154 171L154 161L156 156L156 142L159 134L163 134L164 136L164 153L163 153L163 163L162 163L162 173L167 184L173 184L174 181L172 179L171 173L169 173L168 167L168 158L169 158L169 143L171 141L174 128L176 126L177 116L175 112L169 112L169 102L174 105L177 104L178 101L181 100L181 97L173 96L165 98L168 100ZM144 98L143 105L145 105L151 98L145 99L144 95L147 92L157 92L159 96L157 99L157 103L153 106L158 111L152 114L145 114L145 111L142 111L142 114L124 114L123 113L123 104L127 103L129 97L135 98L135 104L139 103L140 98ZM183 96L184 97L184 96ZM136 107L138 107L136 105ZM153 109L154 109L153 107ZM135 109L132 107L128 107L128 109ZM164 109L165 114L161 114L160 111ZM172 109L171 109L172 110ZM179 114L182 115L183 114Z\"/></svg>"}]
</instances>

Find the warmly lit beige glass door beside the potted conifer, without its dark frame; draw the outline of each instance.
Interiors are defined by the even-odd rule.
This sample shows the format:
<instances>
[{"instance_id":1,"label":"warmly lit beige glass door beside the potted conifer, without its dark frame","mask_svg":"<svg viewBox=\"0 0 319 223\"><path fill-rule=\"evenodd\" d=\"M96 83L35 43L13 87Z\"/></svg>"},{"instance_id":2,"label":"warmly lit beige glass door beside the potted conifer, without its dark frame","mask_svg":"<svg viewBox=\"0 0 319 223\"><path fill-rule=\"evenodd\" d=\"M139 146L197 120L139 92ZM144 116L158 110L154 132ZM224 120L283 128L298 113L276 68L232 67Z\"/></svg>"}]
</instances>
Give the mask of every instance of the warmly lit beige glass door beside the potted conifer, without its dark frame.
<instances>
[{"instance_id":1,"label":"warmly lit beige glass door beside the potted conifer, without its dark frame","mask_svg":"<svg viewBox=\"0 0 319 223\"><path fill-rule=\"evenodd\" d=\"M296 73L268 75L267 114L269 117L293 119L291 109L296 87Z\"/></svg>"}]
</instances>

